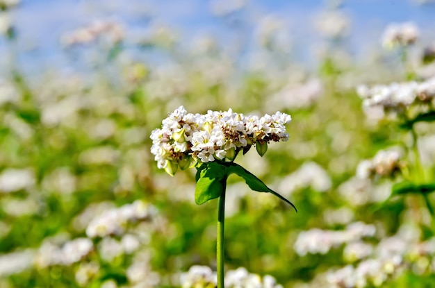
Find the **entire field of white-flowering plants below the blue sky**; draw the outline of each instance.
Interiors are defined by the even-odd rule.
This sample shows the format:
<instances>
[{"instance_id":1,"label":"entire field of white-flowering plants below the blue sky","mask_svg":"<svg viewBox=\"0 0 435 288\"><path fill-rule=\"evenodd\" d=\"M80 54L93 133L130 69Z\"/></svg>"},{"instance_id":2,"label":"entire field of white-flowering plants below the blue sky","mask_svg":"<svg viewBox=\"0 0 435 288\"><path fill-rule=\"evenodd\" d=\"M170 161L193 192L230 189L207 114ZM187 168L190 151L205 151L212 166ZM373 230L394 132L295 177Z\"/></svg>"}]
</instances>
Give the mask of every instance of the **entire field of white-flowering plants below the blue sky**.
<instances>
[{"instance_id":1,"label":"entire field of white-flowering plants below the blue sky","mask_svg":"<svg viewBox=\"0 0 435 288\"><path fill-rule=\"evenodd\" d=\"M225 287L435 287L435 38L416 24L358 60L325 8L309 65L277 17L244 44L101 18L35 75L18 2L0 0L1 288L217 287L221 236ZM242 37L231 3L213 12Z\"/></svg>"}]
</instances>

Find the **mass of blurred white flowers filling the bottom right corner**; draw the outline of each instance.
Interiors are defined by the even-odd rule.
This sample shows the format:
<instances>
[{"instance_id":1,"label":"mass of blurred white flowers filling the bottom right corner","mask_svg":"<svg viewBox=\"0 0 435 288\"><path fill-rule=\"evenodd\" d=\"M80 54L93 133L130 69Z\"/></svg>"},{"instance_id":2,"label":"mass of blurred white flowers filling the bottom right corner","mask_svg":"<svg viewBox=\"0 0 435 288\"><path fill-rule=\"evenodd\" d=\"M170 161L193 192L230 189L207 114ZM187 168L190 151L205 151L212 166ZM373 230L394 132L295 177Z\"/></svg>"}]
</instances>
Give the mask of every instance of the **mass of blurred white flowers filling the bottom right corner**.
<instances>
[{"instance_id":1,"label":"mass of blurred white flowers filling the bottom right corner","mask_svg":"<svg viewBox=\"0 0 435 288\"><path fill-rule=\"evenodd\" d=\"M434 273L434 238L421 241L420 236L416 226L405 223L395 235L381 239L376 246L364 242L347 244L343 258L350 264L329 269L306 287L381 287L407 271L419 276Z\"/></svg>"}]
</instances>

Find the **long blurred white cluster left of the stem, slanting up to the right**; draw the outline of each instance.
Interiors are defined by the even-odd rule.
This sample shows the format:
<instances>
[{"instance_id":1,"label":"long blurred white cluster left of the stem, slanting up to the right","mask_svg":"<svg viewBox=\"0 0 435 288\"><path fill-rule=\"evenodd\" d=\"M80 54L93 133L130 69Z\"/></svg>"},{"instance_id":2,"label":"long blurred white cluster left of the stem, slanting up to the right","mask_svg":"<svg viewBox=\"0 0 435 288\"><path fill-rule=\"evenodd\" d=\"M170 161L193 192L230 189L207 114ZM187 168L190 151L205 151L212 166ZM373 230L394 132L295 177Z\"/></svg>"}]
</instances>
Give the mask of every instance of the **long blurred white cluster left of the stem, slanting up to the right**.
<instances>
[{"instance_id":1,"label":"long blurred white cluster left of the stem, slanting up to the right","mask_svg":"<svg viewBox=\"0 0 435 288\"><path fill-rule=\"evenodd\" d=\"M156 207L137 200L131 204L108 210L92 219L86 228L86 235L90 238L121 235L129 223L153 220L156 214Z\"/></svg>"}]
</instances>

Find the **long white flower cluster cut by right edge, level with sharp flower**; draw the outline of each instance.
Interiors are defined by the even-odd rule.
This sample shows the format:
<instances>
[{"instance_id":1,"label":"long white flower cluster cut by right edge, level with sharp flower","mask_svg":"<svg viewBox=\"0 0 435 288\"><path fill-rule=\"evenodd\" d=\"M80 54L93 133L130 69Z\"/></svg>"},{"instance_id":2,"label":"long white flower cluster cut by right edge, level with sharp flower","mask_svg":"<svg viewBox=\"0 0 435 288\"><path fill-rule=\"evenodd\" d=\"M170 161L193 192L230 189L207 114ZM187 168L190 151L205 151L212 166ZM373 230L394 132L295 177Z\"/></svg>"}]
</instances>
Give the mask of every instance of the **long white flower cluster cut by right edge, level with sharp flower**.
<instances>
[{"instance_id":1,"label":"long white flower cluster cut by right edge, level with sharp flower","mask_svg":"<svg viewBox=\"0 0 435 288\"><path fill-rule=\"evenodd\" d=\"M414 103L430 103L435 98L435 77L420 83L411 81L373 87L359 85L356 93L363 99L365 108L408 108Z\"/></svg>"}]
</instances>

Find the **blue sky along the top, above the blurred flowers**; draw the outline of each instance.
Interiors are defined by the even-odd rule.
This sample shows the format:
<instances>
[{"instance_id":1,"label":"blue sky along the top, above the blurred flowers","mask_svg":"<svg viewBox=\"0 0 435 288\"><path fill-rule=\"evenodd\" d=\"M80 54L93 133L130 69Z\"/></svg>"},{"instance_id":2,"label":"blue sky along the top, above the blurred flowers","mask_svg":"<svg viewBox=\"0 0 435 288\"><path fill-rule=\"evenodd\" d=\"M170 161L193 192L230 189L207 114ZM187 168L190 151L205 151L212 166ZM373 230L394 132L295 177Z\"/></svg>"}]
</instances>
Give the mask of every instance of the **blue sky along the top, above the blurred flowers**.
<instances>
[{"instance_id":1,"label":"blue sky along the top, above the blurred flowers","mask_svg":"<svg viewBox=\"0 0 435 288\"><path fill-rule=\"evenodd\" d=\"M341 1L341 10L352 19L353 46L377 42L384 27L391 22L416 22L423 39L435 40L435 5L416 5L417 0L348 0ZM313 17L331 1L250 0L245 17L254 25L262 15L274 15L288 25L292 42L311 45L317 39ZM13 13L17 25L17 51L36 65L49 67L63 61L59 49L60 36L91 22L92 19L120 19L128 29L147 26L143 15L151 22L174 27L187 42L202 34L224 39L231 35L229 27L211 12L213 1L204 0L23 0ZM432 37L432 39L431 39ZM0 41L0 52L6 49ZM4 55L4 53L3 53Z\"/></svg>"}]
</instances>

